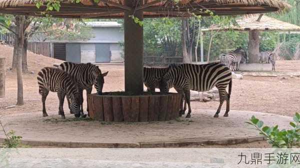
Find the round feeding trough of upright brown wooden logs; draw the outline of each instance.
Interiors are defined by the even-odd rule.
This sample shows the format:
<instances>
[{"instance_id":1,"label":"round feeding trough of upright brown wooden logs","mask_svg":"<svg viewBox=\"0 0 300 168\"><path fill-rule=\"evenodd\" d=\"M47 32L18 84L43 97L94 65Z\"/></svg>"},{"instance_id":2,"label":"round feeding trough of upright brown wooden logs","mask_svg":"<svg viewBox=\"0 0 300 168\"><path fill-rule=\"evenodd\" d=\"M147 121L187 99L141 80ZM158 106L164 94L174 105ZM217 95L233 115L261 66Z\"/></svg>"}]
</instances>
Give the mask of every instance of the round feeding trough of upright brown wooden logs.
<instances>
[{"instance_id":1,"label":"round feeding trough of upright brown wooden logs","mask_svg":"<svg viewBox=\"0 0 300 168\"><path fill-rule=\"evenodd\" d=\"M146 122L174 120L179 116L181 96L167 95L111 96L89 94L89 117L106 122Z\"/></svg>"}]
</instances>

